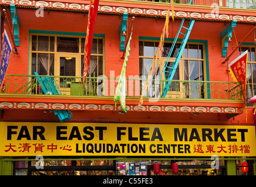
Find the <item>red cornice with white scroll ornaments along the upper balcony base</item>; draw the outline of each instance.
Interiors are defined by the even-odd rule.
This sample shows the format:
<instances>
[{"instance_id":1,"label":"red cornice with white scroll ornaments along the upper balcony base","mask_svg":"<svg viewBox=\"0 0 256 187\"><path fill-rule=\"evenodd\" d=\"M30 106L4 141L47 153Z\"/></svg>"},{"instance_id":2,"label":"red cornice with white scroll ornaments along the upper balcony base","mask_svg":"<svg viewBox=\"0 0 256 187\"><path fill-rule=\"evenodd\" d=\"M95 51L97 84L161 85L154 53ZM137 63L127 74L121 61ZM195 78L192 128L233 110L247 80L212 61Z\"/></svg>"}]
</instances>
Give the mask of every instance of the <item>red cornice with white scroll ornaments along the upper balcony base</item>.
<instances>
[{"instance_id":1,"label":"red cornice with white scroll ornaments along the upper balcony base","mask_svg":"<svg viewBox=\"0 0 256 187\"><path fill-rule=\"evenodd\" d=\"M1 1L0 4L4 4L4 5L14 4L17 7L22 7L22 8L38 8L39 6L43 6L43 8L55 9L60 11L87 12L89 10L89 5L88 5L89 1L84 1L83 3L30 1L30 0L0 0L0 1ZM140 4L142 2L140 2ZM141 8L141 6L138 6L134 1L133 3L132 2L127 3L126 1L122 3L117 3L114 1L111 4L110 2L108 3L106 1L103 1L99 5L98 13L120 14L120 13L127 12L128 15L150 16L154 18L164 17L167 13L166 6L168 4L164 4L164 5L154 4L155 6L151 6L151 4L145 4L145 5L148 5L148 6L143 6L145 8ZM179 6L181 6L182 8ZM155 7L155 9L153 9L153 7ZM208 20L208 21L218 21L218 22L226 22L226 21L232 21L232 20L237 20L237 22L243 22L243 23L256 22L256 15L253 16L253 12L252 12L254 10L248 11L247 9L230 9L230 8L220 7L219 8L220 13L216 14L211 12L213 8L211 8L210 6L176 4L175 8L177 9L175 9L174 11L174 18L186 18L186 19L193 18L197 20ZM248 14L245 12L248 12Z\"/></svg>"}]
</instances>

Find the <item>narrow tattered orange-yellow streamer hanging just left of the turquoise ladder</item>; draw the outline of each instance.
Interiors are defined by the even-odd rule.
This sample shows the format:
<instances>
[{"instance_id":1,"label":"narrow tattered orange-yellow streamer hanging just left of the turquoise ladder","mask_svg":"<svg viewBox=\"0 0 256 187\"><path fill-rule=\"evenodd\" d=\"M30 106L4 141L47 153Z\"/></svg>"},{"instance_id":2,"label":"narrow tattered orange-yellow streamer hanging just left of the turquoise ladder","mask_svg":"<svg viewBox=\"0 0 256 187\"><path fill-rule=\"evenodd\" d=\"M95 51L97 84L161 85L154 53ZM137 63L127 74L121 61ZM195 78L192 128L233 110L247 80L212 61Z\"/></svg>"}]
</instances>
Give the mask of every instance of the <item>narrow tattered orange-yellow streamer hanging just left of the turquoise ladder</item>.
<instances>
[{"instance_id":1,"label":"narrow tattered orange-yellow streamer hanging just left of the turquoise ladder","mask_svg":"<svg viewBox=\"0 0 256 187\"><path fill-rule=\"evenodd\" d=\"M162 57L162 53L163 53L163 48L164 48L164 36L165 36L165 34L166 34L166 37L168 37L168 35L169 35L168 25L169 25L169 9L170 8L171 8L171 6L169 6L167 14L165 16L165 24L164 24L164 28L162 29L160 41L159 41L159 44L158 44L157 53L155 53L152 67L150 68L150 72L148 73L147 82L143 86L141 96L140 96L139 106L141 106L142 103L143 103L143 97L146 94L146 91L148 89L148 85L151 85L151 82L153 81L153 72L154 72L155 76L157 75L157 61L158 61L158 67L160 67L159 65L160 65L160 61L161 61L161 57Z\"/></svg>"}]
</instances>

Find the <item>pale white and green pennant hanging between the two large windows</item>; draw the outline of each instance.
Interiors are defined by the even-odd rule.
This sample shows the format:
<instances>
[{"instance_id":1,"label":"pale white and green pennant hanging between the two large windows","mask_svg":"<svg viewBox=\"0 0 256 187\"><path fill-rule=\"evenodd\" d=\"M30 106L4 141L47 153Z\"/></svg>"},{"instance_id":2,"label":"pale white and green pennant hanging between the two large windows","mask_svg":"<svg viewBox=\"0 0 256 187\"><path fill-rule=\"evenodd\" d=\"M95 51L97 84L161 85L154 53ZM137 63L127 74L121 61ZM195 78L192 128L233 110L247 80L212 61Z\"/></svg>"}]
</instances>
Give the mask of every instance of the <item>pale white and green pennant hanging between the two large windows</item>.
<instances>
[{"instance_id":1,"label":"pale white and green pennant hanging between the two large windows","mask_svg":"<svg viewBox=\"0 0 256 187\"><path fill-rule=\"evenodd\" d=\"M122 109L124 110L124 112L127 112L127 110L126 110L126 64L127 64L127 60L128 60L127 57L130 55L129 51L130 51L130 41L131 40L132 40L132 34L130 36L130 39L129 39L127 47L126 47L124 63L123 63L120 77L119 77L118 84L116 86L116 93L114 96L114 101L116 102L115 105L118 102L117 99L119 99L120 105L121 105Z\"/></svg>"}]
</instances>

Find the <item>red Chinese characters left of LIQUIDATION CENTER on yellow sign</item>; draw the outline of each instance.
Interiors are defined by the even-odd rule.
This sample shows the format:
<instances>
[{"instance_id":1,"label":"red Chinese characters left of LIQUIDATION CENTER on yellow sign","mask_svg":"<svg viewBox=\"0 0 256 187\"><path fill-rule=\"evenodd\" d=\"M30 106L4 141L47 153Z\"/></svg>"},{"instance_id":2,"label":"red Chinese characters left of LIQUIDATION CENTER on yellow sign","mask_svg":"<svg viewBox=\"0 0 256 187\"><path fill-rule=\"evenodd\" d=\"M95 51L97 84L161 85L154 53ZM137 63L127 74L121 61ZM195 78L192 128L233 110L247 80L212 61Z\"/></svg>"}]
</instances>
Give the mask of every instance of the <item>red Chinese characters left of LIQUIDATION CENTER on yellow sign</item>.
<instances>
[{"instance_id":1,"label":"red Chinese characters left of LIQUIDATION CENTER on yellow sign","mask_svg":"<svg viewBox=\"0 0 256 187\"><path fill-rule=\"evenodd\" d=\"M50 150L51 153L54 152L54 150L63 150L63 151L72 151L71 146L67 145L67 146L61 146L58 147L56 144L47 144L44 145L42 143L38 143L38 144L32 144L30 145L30 143L23 143L23 144L19 144L19 146L16 145L12 145L11 143L9 145L6 145L6 150L4 150L5 152L26 152L26 153L30 153L30 151L34 151L34 153L36 152L40 152L43 153L45 150Z\"/></svg>"}]
</instances>

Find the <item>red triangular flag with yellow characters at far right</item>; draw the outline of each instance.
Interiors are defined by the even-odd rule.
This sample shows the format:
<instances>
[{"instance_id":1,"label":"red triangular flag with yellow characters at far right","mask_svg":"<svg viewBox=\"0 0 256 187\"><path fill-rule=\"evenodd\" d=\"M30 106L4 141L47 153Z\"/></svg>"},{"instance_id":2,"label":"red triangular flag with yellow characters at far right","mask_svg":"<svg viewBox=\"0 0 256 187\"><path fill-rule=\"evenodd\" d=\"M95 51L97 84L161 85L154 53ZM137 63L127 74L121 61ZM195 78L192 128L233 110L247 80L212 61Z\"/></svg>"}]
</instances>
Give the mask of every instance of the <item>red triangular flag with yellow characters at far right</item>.
<instances>
[{"instance_id":1,"label":"red triangular flag with yellow characters at far right","mask_svg":"<svg viewBox=\"0 0 256 187\"><path fill-rule=\"evenodd\" d=\"M247 56L248 51L245 51L243 54L241 54L229 64L231 77L234 78L234 81L241 82L242 84L244 101L246 101Z\"/></svg>"}]
</instances>

